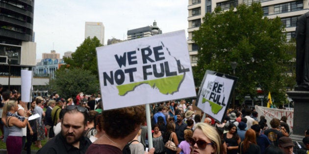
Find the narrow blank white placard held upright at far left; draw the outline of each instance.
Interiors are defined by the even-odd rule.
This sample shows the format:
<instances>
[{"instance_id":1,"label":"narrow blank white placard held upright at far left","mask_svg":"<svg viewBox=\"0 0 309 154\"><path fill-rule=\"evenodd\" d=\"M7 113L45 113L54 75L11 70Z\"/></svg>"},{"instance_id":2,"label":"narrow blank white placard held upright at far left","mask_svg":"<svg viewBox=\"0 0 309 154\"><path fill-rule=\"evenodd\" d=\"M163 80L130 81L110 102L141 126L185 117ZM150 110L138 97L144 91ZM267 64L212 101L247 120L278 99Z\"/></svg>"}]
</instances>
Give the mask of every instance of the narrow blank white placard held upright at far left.
<instances>
[{"instance_id":1,"label":"narrow blank white placard held upright at far left","mask_svg":"<svg viewBox=\"0 0 309 154\"><path fill-rule=\"evenodd\" d=\"M23 102L31 102L32 76L33 75L31 70L21 70L21 87Z\"/></svg>"}]
</instances>

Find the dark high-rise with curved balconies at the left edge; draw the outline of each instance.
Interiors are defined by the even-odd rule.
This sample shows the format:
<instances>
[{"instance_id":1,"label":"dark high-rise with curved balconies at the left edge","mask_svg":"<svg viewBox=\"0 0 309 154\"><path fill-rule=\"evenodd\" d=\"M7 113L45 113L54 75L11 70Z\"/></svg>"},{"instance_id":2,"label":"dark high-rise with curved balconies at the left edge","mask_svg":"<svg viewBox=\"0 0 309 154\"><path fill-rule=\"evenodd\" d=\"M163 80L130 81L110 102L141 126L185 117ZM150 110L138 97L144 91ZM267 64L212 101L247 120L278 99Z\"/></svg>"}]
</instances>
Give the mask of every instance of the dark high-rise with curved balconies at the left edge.
<instances>
[{"instance_id":1,"label":"dark high-rise with curved balconies at the left edge","mask_svg":"<svg viewBox=\"0 0 309 154\"><path fill-rule=\"evenodd\" d=\"M0 84L20 89L21 70L35 66L34 0L0 0ZM33 85L40 85L33 80ZM45 85L45 81L43 81Z\"/></svg>"}]
</instances>

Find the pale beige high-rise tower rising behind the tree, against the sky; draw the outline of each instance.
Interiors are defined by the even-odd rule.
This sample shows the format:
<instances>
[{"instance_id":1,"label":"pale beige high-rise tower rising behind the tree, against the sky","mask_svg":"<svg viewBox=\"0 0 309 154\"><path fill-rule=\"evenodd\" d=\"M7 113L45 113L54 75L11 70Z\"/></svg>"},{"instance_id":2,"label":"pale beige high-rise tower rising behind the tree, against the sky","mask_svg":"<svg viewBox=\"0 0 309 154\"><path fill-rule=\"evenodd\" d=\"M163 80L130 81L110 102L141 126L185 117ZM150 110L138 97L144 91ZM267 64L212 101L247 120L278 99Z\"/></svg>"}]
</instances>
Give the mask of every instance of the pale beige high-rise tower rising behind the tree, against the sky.
<instances>
[{"instance_id":1,"label":"pale beige high-rise tower rising behind the tree, against the sky","mask_svg":"<svg viewBox=\"0 0 309 154\"><path fill-rule=\"evenodd\" d=\"M85 22L85 39L97 37L104 45L104 25L102 22Z\"/></svg>"}]
</instances>

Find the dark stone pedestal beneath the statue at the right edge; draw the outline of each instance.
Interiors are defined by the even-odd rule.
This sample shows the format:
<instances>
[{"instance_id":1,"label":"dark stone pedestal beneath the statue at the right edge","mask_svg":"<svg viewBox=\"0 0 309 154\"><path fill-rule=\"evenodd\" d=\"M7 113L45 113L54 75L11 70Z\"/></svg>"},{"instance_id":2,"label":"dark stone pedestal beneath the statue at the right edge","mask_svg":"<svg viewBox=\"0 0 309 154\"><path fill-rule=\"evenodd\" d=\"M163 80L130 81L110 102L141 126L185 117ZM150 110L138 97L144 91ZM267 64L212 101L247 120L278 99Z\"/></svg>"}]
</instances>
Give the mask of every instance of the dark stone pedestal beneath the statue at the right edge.
<instances>
[{"instance_id":1,"label":"dark stone pedestal beneath the statue at the right edge","mask_svg":"<svg viewBox=\"0 0 309 154\"><path fill-rule=\"evenodd\" d=\"M292 140L301 141L309 126L309 91L287 91L287 95L294 101Z\"/></svg>"}]
</instances>

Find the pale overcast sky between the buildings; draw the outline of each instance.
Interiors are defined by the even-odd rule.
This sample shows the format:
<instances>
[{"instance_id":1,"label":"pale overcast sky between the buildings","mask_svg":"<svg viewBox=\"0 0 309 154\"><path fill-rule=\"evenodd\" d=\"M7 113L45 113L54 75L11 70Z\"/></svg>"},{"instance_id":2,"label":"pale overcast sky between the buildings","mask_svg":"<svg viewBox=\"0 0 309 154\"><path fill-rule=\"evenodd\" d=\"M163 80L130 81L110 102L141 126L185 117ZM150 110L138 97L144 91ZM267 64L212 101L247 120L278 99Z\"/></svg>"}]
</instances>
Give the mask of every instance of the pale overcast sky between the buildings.
<instances>
[{"instance_id":1,"label":"pale overcast sky between the buildings","mask_svg":"<svg viewBox=\"0 0 309 154\"><path fill-rule=\"evenodd\" d=\"M85 37L85 22L103 22L108 39L127 40L127 31L153 25L163 33L188 28L188 0L35 0L36 59L55 50L75 51Z\"/></svg>"}]
</instances>

